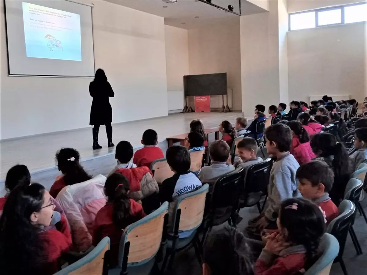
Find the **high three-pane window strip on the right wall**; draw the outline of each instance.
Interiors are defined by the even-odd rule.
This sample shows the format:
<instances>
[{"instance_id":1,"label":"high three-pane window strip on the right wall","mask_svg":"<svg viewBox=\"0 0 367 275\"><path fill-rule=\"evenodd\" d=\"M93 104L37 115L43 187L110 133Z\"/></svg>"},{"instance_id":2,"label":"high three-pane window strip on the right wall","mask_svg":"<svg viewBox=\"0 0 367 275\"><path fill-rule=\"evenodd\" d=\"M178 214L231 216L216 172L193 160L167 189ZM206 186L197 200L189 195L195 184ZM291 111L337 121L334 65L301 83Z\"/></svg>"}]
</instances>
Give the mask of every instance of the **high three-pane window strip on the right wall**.
<instances>
[{"instance_id":1,"label":"high three-pane window strip on the right wall","mask_svg":"<svg viewBox=\"0 0 367 275\"><path fill-rule=\"evenodd\" d=\"M289 30L367 21L367 3L289 14Z\"/></svg>"}]
</instances>

